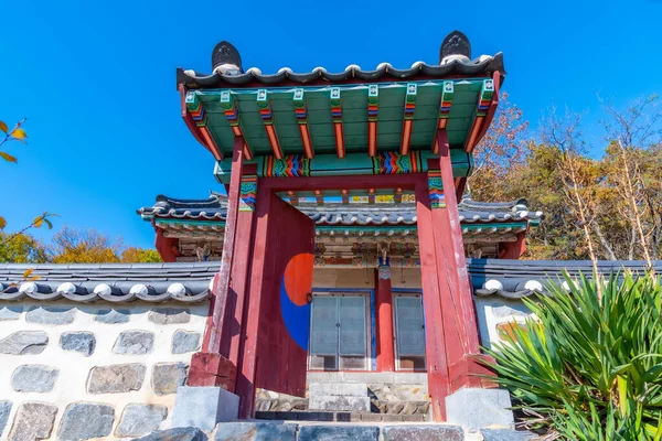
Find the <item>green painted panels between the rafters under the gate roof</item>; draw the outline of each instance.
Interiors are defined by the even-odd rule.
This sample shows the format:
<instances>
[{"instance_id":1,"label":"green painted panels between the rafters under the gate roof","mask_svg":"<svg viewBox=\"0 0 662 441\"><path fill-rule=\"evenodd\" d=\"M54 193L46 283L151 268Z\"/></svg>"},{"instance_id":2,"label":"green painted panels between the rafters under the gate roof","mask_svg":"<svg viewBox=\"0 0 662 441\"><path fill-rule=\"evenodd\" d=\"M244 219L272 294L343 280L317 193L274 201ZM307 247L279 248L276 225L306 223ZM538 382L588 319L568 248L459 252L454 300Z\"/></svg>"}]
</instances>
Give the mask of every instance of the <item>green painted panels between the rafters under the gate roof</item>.
<instances>
[{"instance_id":1,"label":"green painted panels between the rafters under the gate roof","mask_svg":"<svg viewBox=\"0 0 662 441\"><path fill-rule=\"evenodd\" d=\"M451 148L463 148L484 78L458 79L448 118L447 133ZM416 108L410 150L429 151L434 144L439 118L442 80L397 82L378 84L377 150L398 151L402 141L407 84L417 84ZM335 86L335 85L334 85ZM316 154L335 153L335 136L331 117L331 87L302 87L308 108L307 123ZM369 85L340 86L344 146L348 153L367 151ZM221 106L221 93L229 90L237 104L241 127L255 155L271 154L271 146L257 106L258 89L197 90L206 114L206 126L224 157L232 157L234 133ZM274 127L284 154L301 154L303 144L295 115L293 87L267 88L274 114Z\"/></svg>"}]
</instances>

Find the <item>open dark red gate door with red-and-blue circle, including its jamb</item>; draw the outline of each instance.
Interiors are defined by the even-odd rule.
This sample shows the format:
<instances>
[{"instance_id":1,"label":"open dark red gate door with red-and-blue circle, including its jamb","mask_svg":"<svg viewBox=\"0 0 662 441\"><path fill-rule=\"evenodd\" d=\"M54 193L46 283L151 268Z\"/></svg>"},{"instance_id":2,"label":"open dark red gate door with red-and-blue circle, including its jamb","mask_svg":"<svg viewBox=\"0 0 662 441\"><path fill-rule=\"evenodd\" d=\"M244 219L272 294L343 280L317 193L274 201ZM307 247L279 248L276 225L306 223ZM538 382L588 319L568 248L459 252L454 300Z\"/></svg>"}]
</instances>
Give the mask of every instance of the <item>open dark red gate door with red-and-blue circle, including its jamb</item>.
<instances>
[{"instance_id":1,"label":"open dark red gate door with red-and-blue circle, including its jamb","mask_svg":"<svg viewBox=\"0 0 662 441\"><path fill-rule=\"evenodd\" d=\"M252 412L256 387L303 396L312 301L314 223L261 187L255 214L246 343L237 384L245 416Z\"/></svg>"}]
</instances>

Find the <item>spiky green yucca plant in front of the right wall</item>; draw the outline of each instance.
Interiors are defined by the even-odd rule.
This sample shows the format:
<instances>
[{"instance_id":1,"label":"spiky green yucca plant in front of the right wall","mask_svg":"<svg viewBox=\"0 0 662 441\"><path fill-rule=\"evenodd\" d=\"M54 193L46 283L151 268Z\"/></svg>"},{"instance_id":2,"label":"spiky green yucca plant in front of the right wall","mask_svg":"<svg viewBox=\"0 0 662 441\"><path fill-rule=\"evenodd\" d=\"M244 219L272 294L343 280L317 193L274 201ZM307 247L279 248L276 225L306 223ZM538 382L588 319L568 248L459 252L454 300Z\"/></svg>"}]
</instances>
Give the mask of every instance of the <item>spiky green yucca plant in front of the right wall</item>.
<instances>
[{"instance_id":1,"label":"spiky green yucca plant in front of the right wall","mask_svg":"<svg viewBox=\"0 0 662 441\"><path fill-rule=\"evenodd\" d=\"M662 288L580 276L524 302L537 320L485 349L530 428L567 440L662 440ZM602 283L597 289L596 280Z\"/></svg>"}]
</instances>

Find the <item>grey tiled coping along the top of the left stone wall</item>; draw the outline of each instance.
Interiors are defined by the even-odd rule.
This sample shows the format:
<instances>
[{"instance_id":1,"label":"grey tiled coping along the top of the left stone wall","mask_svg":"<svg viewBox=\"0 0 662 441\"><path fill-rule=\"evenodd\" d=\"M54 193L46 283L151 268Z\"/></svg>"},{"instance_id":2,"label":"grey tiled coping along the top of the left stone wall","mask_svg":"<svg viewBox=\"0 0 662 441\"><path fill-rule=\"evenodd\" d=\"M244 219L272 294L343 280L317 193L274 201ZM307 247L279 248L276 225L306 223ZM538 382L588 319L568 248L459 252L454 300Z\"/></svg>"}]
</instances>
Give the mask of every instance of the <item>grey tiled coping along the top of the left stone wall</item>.
<instances>
[{"instance_id":1,"label":"grey tiled coping along the top of the left stone wall","mask_svg":"<svg viewBox=\"0 0 662 441\"><path fill-rule=\"evenodd\" d=\"M32 269L34 282L21 282ZM0 301L67 299L78 302L178 301L210 297L218 262L199 263L0 263ZM18 286L11 286L18 283Z\"/></svg>"}]
</instances>

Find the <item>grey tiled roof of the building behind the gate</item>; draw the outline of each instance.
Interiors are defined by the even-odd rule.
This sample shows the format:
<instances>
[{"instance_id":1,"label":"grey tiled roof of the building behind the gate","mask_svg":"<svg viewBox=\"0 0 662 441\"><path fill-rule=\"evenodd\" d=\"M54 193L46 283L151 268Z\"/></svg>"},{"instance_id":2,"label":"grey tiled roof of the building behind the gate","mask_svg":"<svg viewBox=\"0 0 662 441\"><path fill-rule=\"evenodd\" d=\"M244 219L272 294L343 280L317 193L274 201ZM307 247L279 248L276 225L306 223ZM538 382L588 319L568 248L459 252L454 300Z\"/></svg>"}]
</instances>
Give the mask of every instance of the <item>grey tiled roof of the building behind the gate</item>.
<instances>
[{"instance_id":1,"label":"grey tiled roof of the building behind the gate","mask_svg":"<svg viewBox=\"0 0 662 441\"><path fill-rule=\"evenodd\" d=\"M143 218L181 218L192 220L225 220L227 198L212 193L207 200L178 200L158 196L151 207L137 211ZM314 203L300 203L297 207L310 216L317 225L414 225L416 205L410 202L401 204L328 203L318 206ZM525 200L513 202L477 202L463 198L458 204L460 223L499 223L540 220L542 212L531 212Z\"/></svg>"}]
</instances>

